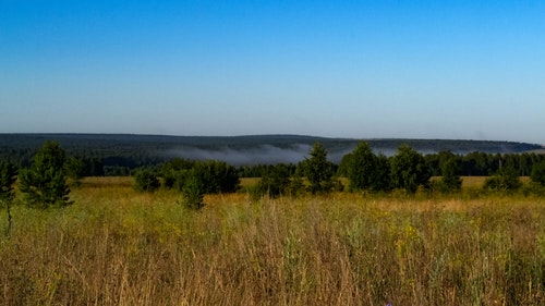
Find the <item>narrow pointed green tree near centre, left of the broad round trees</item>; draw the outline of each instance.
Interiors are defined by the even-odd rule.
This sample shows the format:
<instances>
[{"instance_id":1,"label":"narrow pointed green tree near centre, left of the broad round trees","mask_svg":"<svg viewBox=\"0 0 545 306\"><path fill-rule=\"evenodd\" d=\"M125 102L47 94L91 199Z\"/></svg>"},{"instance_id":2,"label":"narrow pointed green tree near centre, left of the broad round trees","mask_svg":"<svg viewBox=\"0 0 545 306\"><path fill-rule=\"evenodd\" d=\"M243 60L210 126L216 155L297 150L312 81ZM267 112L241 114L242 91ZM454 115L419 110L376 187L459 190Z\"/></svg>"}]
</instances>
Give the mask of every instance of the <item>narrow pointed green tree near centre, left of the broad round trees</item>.
<instances>
[{"instance_id":1,"label":"narrow pointed green tree near centre, left of the broad round trees","mask_svg":"<svg viewBox=\"0 0 545 306\"><path fill-rule=\"evenodd\" d=\"M310 191L313 194L318 192L329 192L331 185L332 162L327 160L327 150L320 143L315 143L311 152L311 157L302 162L304 173L308 183Z\"/></svg>"}]
</instances>

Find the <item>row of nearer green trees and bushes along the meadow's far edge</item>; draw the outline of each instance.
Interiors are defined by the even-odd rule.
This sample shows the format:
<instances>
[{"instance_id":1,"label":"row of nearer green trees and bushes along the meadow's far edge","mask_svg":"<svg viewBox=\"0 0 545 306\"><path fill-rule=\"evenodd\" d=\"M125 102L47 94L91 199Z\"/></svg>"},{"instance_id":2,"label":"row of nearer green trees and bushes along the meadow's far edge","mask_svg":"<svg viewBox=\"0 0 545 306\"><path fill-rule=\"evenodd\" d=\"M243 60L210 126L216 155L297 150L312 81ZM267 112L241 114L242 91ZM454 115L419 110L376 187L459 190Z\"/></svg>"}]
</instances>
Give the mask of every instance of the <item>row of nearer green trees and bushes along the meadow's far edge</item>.
<instances>
[{"instance_id":1,"label":"row of nearer green trees and bushes along the meadow's far edge","mask_svg":"<svg viewBox=\"0 0 545 306\"><path fill-rule=\"evenodd\" d=\"M391 157L375 154L361 142L344 156L339 167L328 160L328 151L315 143L308 156L298 164L259 167L261 179L249 192L252 196L298 196L344 191L339 174L348 179L348 191L389 193L417 191L453 193L461 188L464 167L479 164L479 174L491 174L484 188L510 192L521 186L519 176L524 166L533 186L545 188L545 159L538 155L498 156L473 154L457 156L450 151L423 156L408 145L401 145ZM480 162L476 162L476 161ZM497 164L497 167L495 166ZM529 168L531 164L531 168ZM519 167L519 168L517 168ZM69 157L59 143L48 140L40 147L28 167L17 168L7 160L0 161L0 203L8 211L15 198L14 183L19 179L21 201L34 208L64 207L72 204L70 185L77 186L84 171L81 159ZM528 168L528 169L526 169ZM472 169L475 169L473 167ZM493 173L491 173L494 171ZM174 158L160 167L140 168L132 173L135 187L141 192L155 192L159 187L182 193L181 203L201 208L205 194L234 193L240 188L240 169L225 161L192 161ZM432 176L438 180L432 180Z\"/></svg>"}]
</instances>

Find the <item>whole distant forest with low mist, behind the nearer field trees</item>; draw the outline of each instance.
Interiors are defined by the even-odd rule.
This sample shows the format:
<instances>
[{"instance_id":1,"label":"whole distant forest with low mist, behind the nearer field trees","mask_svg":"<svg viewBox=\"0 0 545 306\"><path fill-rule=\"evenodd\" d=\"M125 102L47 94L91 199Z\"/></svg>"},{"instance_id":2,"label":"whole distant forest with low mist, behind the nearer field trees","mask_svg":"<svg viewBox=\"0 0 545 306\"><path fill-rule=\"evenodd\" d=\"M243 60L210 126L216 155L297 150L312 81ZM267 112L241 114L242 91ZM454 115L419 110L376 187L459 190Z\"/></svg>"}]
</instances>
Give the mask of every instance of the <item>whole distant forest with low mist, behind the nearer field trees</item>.
<instances>
[{"instance_id":1,"label":"whole distant forest with low mist, behind the nearer field trees","mask_svg":"<svg viewBox=\"0 0 545 306\"><path fill-rule=\"evenodd\" d=\"M543 146L513 142L445 139L352 139L301 135L161 136L132 134L0 134L0 160L28 167L36 150L56 140L68 157L81 159L86 176L130 175L137 168L156 168L174 158L223 160L238 167L241 176L261 176L268 166L304 160L319 142L337 166L358 143L366 142L376 152L391 156L409 145L425 156L434 174L437 152L448 150L459 158L461 175L489 175L502 164L529 175L533 163L544 159ZM338 168L342 175L342 167Z\"/></svg>"}]
</instances>

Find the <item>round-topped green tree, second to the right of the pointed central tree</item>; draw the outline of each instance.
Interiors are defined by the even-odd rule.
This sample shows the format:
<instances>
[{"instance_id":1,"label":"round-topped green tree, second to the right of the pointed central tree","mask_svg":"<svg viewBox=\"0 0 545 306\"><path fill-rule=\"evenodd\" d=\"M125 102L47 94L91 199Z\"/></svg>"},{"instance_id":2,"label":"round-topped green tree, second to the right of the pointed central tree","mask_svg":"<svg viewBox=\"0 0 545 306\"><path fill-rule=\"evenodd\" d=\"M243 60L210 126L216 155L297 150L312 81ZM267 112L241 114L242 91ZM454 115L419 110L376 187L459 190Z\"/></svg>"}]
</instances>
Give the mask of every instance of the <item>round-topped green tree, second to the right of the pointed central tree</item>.
<instances>
[{"instance_id":1,"label":"round-topped green tree, second to the right of the pointed central tree","mask_svg":"<svg viewBox=\"0 0 545 306\"><path fill-rule=\"evenodd\" d=\"M413 148L402 145L390 159L391 184L395 188L414 194L420 186L426 187L432 178L424 157Z\"/></svg>"}]
</instances>

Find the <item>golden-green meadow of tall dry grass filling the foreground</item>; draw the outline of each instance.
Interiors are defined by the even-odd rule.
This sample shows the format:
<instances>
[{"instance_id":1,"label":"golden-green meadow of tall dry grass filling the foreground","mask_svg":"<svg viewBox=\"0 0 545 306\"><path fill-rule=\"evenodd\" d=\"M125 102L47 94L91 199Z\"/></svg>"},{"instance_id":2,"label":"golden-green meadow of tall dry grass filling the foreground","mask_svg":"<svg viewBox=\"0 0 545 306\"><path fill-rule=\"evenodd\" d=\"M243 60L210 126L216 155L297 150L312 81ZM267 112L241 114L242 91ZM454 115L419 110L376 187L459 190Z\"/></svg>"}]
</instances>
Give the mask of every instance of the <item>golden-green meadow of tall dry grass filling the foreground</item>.
<instances>
[{"instance_id":1,"label":"golden-green meadow of tall dry grass filling the foreground","mask_svg":"<svg viewBox=\"0 0 545 306\"><path fill-rule=\"evenodd\" d=\"M13 208L0 305L545 305L544 198L233 194L191 211L124 178L71 197Z\"/></svg>"}]
</instances>

